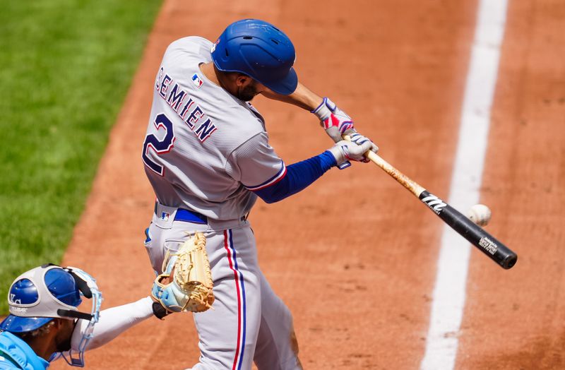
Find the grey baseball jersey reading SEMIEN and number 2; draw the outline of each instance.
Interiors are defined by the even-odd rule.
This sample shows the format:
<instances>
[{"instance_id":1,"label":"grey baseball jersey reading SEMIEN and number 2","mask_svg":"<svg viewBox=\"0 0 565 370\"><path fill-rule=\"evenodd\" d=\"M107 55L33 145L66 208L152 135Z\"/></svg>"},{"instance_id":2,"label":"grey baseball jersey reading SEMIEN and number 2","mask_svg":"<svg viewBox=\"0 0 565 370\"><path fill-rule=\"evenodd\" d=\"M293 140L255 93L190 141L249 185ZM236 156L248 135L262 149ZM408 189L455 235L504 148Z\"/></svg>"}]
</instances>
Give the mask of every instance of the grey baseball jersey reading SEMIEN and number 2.
<instances>
[{"instance_id":1,"label":"grey baseball jersey reading SEMIEN and number 2","mask_svg":"<svg viewBox=\"0 0 565 370\"><path fill-rule=\"evenodd\" d=\"M201 72L211 47L202 37L184 37L167 48L142 156L162 205L232 220L251 210L251 190L278 181L286 168L261 114Z\"/></svg>"}]
</instances>

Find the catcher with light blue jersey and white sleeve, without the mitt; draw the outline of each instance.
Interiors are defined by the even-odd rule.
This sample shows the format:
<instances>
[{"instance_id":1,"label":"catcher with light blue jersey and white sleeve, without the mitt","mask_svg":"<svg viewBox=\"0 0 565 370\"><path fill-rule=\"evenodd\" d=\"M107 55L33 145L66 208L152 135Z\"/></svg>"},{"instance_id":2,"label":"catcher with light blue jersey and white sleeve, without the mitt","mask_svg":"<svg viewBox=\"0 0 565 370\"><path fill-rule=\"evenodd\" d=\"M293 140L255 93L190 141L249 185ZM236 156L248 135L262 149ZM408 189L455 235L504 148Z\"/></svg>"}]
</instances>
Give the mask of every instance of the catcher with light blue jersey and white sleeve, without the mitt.
<instances>
[{"instance_id":1,"label":"catcher with light blue jersey and white sleeve, without the mitt","mask_svg":"<svg viewBox=\"0 0 565 370\"><path fill-rule=\"evenodd\" d=\"M90 312L78 311L83 298ZM10 315L0 323L0 369L47 369L60 357L83 367L86 350L167 314L150 297L103 311L101 304L96 280L80 268L47 264L21 274L9 290Z\"/></svg>"}]
</instances>

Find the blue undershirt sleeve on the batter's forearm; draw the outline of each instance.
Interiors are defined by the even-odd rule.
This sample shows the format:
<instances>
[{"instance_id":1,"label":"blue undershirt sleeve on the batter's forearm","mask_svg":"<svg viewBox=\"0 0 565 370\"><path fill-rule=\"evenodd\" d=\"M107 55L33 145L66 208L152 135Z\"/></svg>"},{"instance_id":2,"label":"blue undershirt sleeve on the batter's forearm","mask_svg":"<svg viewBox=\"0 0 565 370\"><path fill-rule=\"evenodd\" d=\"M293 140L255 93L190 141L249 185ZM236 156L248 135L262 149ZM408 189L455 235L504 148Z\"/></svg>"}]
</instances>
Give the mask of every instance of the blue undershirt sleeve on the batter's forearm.
<instances>
[{"instance_id":1,"label":"blue undershirt sleeve on the batter's forearm","mask_svg":"<svg viewBox=\"0 0 565 370\"><path fill-rule=\"evenodd\" d=\"M335 165L335 157L326 150L320 155L287 166L287 174L283 179L266 188L255 190L254 193L266 203L282 201L305 189Z\"/></svg>"}]
</instances>

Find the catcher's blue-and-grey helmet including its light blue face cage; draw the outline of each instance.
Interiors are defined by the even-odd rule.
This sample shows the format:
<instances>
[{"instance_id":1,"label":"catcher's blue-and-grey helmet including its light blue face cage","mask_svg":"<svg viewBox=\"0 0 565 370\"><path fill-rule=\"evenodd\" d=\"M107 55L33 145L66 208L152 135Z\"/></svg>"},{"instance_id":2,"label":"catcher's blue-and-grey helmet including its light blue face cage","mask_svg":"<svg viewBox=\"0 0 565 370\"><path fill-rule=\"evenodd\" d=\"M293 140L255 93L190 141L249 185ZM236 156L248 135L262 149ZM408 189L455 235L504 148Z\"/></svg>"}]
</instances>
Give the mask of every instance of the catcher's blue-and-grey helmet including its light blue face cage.
<instances>
[{"instance_id":1,"label":"catcher's blue-and-grey helmet including its light blue face cage","mask_svg":"<svg viewBox=\"0 0 565 370\"><path fill-rule=\"evenodd\" d=\"M93 299L90 314L78 311L81 297ZM62 354L72 366L84 366L84 351L93 337L102 304L102 293L96 280L80 268L61 268L57 265L42 265L18 276L8 292L10 315L0 323L0 330L10 333L25 333L44 326L53 318L88 320L88 326L77 351ZM59 357L60 353L52 357Z\"/></svg>"}]
</instances>

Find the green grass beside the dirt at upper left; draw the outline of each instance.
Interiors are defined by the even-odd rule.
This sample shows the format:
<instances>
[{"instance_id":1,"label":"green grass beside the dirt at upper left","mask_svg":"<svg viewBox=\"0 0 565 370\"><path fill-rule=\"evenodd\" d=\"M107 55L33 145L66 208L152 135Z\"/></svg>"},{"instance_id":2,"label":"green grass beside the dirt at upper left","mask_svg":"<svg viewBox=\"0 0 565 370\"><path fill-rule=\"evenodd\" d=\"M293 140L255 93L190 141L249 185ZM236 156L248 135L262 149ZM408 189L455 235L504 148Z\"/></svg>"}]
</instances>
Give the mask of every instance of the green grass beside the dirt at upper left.
<instances>
[{"instance_id":1,"label":"green grass beside the dirt at upper left","mask_svg":"<svg viewBox=\"0 0 565 370\"><path fill-rule=\"evenodd\" d=\"M0 314L59 263L160 0L16 0L0 11Z\"/></svg>"}]
</instances>

